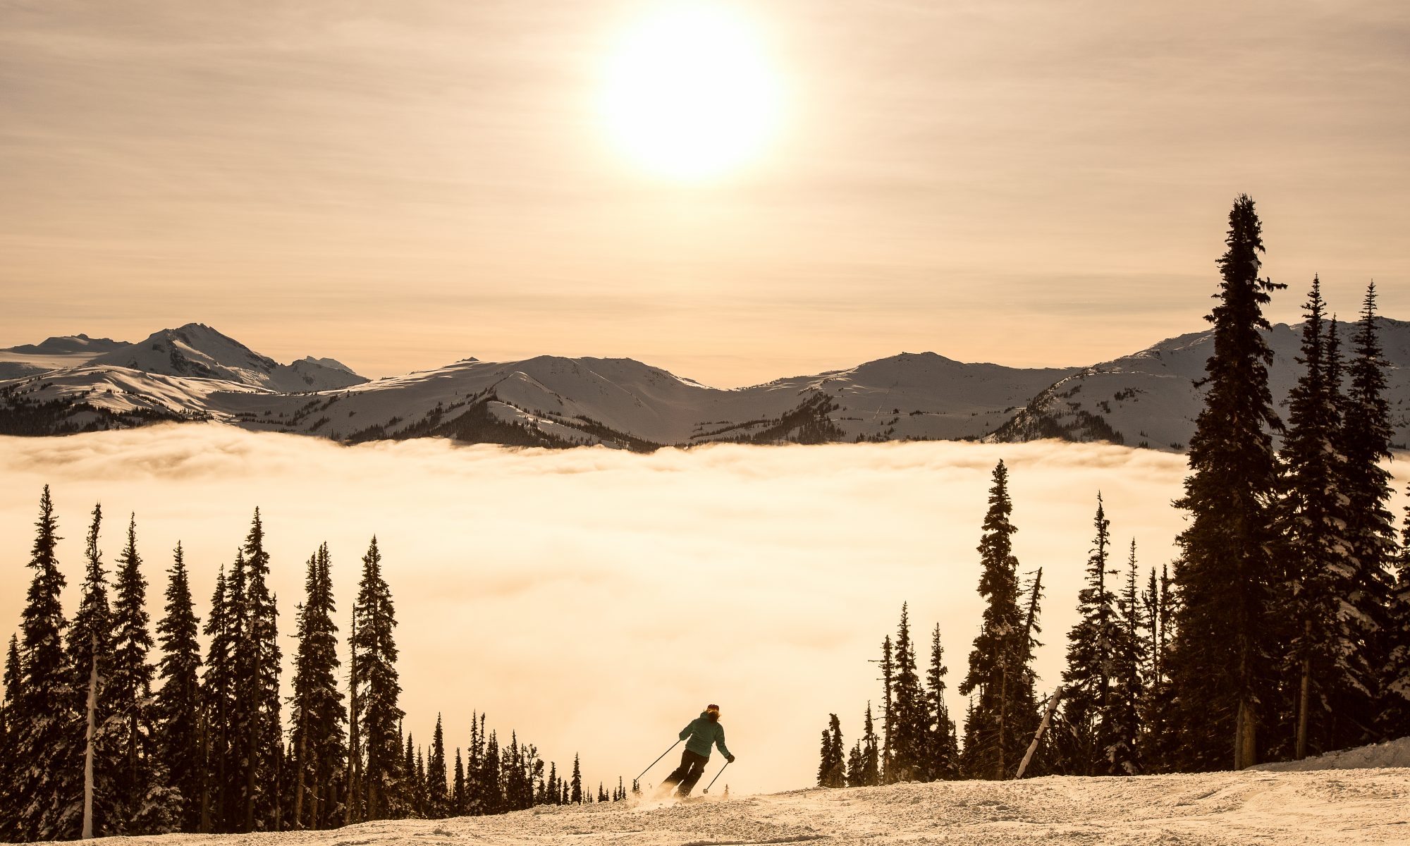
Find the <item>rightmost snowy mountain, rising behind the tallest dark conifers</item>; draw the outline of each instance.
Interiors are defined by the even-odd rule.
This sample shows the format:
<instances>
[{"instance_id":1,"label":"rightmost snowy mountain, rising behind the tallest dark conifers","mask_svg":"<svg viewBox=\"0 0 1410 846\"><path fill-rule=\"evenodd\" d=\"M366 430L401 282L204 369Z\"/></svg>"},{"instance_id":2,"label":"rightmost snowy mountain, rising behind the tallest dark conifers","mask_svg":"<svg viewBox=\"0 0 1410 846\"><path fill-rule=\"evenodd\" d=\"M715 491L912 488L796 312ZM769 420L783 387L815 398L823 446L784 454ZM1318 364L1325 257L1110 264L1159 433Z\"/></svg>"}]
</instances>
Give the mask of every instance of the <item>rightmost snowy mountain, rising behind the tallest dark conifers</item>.
<instances>
[{"instance_id":1,"label":"rightmost snowy mountain, rising behind the tallest dark conifers","mask_svg":"<svg viewBox=\"0 0 1410 846\"><path fill-rule=\"evenodd\" d=\"M1410 323L1380 317L1378 330L1387 364L1392 424L1396 441L1403 444L1410 440ZM1344 354L1355 331L1355 324L1337 323ZM1287 393L1301 374L1297 364L1301 326L1279 323L1263 336L1273 350L1269 389L1286 417ZM1204 378L1204 362L1213 352L1214 333L1203 331L1094 364L1046 388L990 440L1059 437L1183 450L1204 407L1196 382Z\"/></svg>"}]
</instances>

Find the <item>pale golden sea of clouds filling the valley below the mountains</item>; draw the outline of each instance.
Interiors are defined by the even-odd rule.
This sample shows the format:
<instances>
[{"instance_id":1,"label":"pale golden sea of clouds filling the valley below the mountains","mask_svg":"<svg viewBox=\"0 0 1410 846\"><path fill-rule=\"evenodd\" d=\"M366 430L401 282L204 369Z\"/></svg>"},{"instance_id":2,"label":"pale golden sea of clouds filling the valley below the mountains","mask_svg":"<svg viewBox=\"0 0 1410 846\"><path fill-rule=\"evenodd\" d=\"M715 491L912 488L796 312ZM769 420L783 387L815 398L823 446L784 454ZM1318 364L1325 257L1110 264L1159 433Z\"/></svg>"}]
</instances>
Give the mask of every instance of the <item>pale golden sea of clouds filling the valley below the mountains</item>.
<instances>
[{"instance_id":1,"label":"pale golden sea of clouds filling the valley below the mountains","mask_svg":"<svg viewBox=\"0 0 1410 846\"><path fill-rule=\"evenodd\" d=\"M594 785L615 785L718 702L739 756L721 784L805 787L828 713L840 715L850 746L867 701L880 702L869 661L894 636L902 602L922 663L940 625L949 705L964 713L953 688L980 622L974 547L998 460L1010 467L1021 567L1043 568L1038 671L1050 689L1097 492L1112 565L1125 565L1135 539L1142 572L1159 567L1183 526L1170 508L1183 455L1058 443L650 455L440 440L341 447L217 424L0 439L0 634L7 640L18 625L45 484L65 537L69 612L94 502L109 565L135 512L154 620L176 541L204 616L217 567L234 558L259 506L285 634L321 541L345 632L376 534L399 618L406 729L417 743L430 740L440 712L447 744L464 746L471 712L486 711L506 739L517 730L560 768L580 753ZM288 667L292 637L283 649ZM663 761L644 781L667 771Z\"/></svg>"}]
</instances>

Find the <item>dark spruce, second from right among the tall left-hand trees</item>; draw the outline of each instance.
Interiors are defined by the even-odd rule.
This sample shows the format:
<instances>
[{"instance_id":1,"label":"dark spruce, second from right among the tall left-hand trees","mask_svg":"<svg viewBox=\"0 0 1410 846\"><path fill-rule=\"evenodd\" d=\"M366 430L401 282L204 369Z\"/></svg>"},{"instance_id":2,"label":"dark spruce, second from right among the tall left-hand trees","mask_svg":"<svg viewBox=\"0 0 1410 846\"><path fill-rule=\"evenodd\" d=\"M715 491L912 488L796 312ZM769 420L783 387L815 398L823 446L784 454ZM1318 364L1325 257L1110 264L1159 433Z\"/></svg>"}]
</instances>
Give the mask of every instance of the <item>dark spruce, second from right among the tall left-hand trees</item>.
<instances>
[{"instance_id":1,"label":"dark spruce, second from right among the tall left-hand trees","mask_svg":"<svg viewBox=\"0 0 1410 846\"><path fill-rule=\"evenodd\" d=\"M333 622L333 577L329 544L309 557L305 601L299 606L289 697L289 744L293 752L293 828L323 829L343 821L344 736L343 694L338 691L338 627Z\"/></svg>"}]
</instances>

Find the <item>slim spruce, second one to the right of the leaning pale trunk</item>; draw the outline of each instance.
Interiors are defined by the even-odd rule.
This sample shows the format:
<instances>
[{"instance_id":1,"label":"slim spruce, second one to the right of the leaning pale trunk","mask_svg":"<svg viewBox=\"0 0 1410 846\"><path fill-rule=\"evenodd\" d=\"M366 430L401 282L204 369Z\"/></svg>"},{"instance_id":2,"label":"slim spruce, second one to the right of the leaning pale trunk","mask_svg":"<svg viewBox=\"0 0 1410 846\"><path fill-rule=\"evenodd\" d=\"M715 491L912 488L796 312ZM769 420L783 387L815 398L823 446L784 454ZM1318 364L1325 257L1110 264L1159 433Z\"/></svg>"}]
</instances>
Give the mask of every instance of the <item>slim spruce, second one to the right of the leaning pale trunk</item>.
<instances>
[{"instance_id":1,"label":"slim spruce, second one to the right of the leaning pale trunk","mask_svg":"<svg viewBox=\"0 0 1410 846\"><path fill-rule=\"evenodd\" d=\"M1141 711L1145 701L1144 673L1148 661L1145 646L1145 613L1141 591L1136 588L1136 541L1131 541L1127 561L1127 584L1117 598L1115 630L1111 649L1111 694L1104 713L1107 744L1103 747L1108 771L1135 776L1144 771L1141 761Z\"/></svg>"}]
</instances>

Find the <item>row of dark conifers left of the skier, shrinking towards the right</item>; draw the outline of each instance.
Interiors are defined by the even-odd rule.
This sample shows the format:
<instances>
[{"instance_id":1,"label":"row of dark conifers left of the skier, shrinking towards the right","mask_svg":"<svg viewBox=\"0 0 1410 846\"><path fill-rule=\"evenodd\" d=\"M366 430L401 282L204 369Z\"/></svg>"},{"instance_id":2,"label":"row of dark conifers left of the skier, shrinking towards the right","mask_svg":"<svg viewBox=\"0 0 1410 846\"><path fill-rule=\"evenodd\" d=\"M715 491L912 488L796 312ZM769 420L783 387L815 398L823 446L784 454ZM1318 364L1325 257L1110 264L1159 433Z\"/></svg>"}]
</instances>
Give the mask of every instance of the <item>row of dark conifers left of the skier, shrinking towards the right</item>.
<instances>
[{"instance_id":1,"label":"row of dark conifers left of the skier, shrinking towards the right","mask_svg":"<svg viewBox=\"0 0 1410 846\"><path fill-rule=\"evenodd\" d=\"M454 761L440 716L427 746L403 732L396 613L375 537L347 618L347 684L338 684L323 544L307 561L292 689L283 697L278 602L258 509L234 563L216 577L204 623L176 546L155 629L135 520L111 582L99 548L102 522L94 506L79 606L65 618L58 520L44 488L34 578L4 661L0 840L324 829L626 798L620 778L611 794L601 783L595 792L587 788L577 756L571 773L560 774L516 733L502 743L484 715L472 716L470 743L454 749Z\"/></svg>"}]
</instances>

